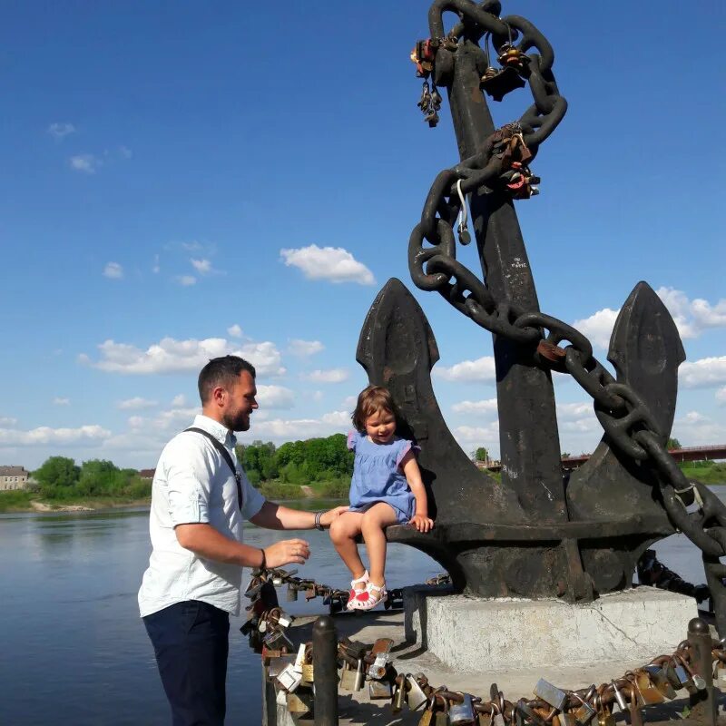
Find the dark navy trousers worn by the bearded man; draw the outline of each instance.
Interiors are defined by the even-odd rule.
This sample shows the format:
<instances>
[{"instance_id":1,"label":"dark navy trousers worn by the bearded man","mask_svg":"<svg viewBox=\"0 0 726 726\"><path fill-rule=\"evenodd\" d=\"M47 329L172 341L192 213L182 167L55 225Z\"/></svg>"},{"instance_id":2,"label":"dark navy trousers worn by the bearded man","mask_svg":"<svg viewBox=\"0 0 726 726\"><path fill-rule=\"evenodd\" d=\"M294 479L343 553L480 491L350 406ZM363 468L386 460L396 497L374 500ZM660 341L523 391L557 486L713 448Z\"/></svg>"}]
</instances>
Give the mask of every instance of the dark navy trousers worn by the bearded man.
<instances>
[{"instance_id":1,"label":"dark navy trousers worn by the bearded man","mask_svg":"<svg viewBox=\"0 0 726 726\"><path fill-rule=\"evenodd\" d=\"M222 726L230 615L190 600L143 618L153 643L173 726Z\"/></svg>"}]
</instances>

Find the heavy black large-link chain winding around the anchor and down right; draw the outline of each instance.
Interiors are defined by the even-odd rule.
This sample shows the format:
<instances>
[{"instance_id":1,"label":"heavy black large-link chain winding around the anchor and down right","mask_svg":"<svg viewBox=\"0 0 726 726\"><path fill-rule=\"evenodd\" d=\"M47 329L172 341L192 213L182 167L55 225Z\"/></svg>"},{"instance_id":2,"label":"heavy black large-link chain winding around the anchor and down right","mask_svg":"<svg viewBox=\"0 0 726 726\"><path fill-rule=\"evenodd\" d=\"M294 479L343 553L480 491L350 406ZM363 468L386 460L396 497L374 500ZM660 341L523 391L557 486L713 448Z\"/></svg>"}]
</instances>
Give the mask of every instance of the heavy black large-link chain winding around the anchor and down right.
<instances>
[{"instance_id":1,"label":"heavy black large-link chain winding around the anchor and down right","mask_svg":"<svg viewBox=\"0 0 726 726\"><path fill-rule=\"evenodd\" d=\"M538 144L554 130L566 109L566 102L554 82L552 46L524 18L492 15L497 11L497 5L478 6L470 0L436 0L429 11L432 33L429 45L433 44L435 51L428 52L430 60L424 62L421 70L427 73L430 67L428 72L436 74L438 64L452 65L454 56L448 48L452 43L456 44L457 36L464 33L465 28L469 40L477 34L488 33L495 48L507 46L524 56L522 73L535 103L518 123L507 124L492 134L476 156L437 175L428 192L421 221L409 240L411 278L420 289L436 290L482 328L531 348L535 366L572 375L593 398L595 415L608 443L626 456L652 464L657 475L658 494L672 525L701 549L719 632L726 634L726 587L723 584L726 566L719 561L726 554L726 506L706 486L686 479L665 446L667 432L660 430L638 392L618 382L603 368L583 333L553 316L527 310L507 299L495 299L486 284L456 260L454 227L465 203L463 194L482 187L503 191L509 188L511 191L511 184L507 182L511 180L513 167L522 168L524 162L534 157ZM447 35L441 20L445 10L455 10L462 17L462 23ZM513 37L521 38L515 46L510 40ZM525 55L532 47L539 54ZM516 164L520 166L516 167ZM522 195L512 193L512 196L521 198ZM564 342L568 345L563 347ZM687 507L693 502L696 507L689 511Z\"/></svg>"}]
</instances>

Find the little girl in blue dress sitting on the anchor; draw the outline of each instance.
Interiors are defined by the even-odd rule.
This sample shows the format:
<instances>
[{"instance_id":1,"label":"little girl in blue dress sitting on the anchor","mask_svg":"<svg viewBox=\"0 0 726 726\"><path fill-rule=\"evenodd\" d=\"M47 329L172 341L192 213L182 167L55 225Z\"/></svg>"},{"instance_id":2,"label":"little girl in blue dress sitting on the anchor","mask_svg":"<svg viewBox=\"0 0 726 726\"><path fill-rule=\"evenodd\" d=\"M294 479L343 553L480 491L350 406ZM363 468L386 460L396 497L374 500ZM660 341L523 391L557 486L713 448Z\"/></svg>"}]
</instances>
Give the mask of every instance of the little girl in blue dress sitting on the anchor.
<instances>
[{"instance_id":1,"label":"little girl in blue dress sitting on the anchor","mask_svg":"<svg viewBox=\"0 0 726 726\"><path fill-rule=\"evenodd\" d=\"M351 417L355 431L348 448L355 452L350 483L350 509L330 526L330 539L353 581L349 610L370 610L386 599L386 535L388 525L414 525L428 532L426 489L414 446L396 436L396 408L387 388L368 386L358 396ZM370 574L358 556L356 537L363 535Z\"/></svg>"}]
</instances>

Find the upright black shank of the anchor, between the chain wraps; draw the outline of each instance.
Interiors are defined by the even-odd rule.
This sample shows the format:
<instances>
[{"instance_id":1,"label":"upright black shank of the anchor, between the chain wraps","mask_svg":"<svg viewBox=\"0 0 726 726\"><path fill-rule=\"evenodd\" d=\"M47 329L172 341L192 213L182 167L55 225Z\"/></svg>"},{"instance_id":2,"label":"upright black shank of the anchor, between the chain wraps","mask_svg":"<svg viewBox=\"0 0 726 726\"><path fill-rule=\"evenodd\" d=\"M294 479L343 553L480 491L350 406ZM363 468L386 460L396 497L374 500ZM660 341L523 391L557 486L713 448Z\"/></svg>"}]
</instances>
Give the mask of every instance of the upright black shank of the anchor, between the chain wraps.
<instances>
[{"instance_id":1,"label":"upright black shank of the anchor, between the chain wraps","mask_svg":"<svg viewBox=\"0 0 726 726\"><path fill-rule=\"evenodd\" d=\"M462 159L474 155L495 131L476 67L478 45L465 40L456 50L448 89ZM496 299L539 310L535 282L514 205L503 192L472 192L469 206L486 285ZM560 443L549 372L532 363L533 350L493 336L502 480L525 510L541 521L567 519L560 468Z\"/></svg>"}]
</instances>

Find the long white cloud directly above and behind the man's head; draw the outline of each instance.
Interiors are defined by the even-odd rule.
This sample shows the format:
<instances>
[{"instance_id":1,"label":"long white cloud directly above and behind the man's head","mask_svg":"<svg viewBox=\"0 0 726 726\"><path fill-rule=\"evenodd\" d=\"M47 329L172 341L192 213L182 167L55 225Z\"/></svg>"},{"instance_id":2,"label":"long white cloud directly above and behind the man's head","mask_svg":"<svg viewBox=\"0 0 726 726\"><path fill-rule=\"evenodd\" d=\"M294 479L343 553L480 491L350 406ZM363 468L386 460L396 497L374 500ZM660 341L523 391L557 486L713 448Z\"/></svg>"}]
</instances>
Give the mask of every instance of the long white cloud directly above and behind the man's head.
<instances>
[{"instance_id":1,"label":"long white cloud directly above and behind the man's head","mask_svg":"<svg viewBox=\"0 0 726 726\"><path fill-rule=\"evenodd\" d=\"M162 338L158 343L142 350L128 343L106 340L98 348L99 360L93 361L83 353L78 359L83 364L109 373L146 375L179 371L198 372L210 358L226 355L236 355L249 360L256 368L258 376L281 376L285 373L285 368L281 365L280 351L269 341L249 342L240 346L239 343L231 343L225 338L203 340Z\"/></svg>"}]
</instances>

